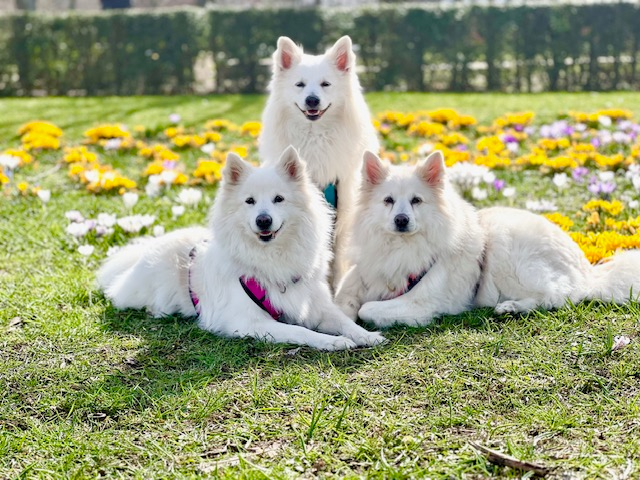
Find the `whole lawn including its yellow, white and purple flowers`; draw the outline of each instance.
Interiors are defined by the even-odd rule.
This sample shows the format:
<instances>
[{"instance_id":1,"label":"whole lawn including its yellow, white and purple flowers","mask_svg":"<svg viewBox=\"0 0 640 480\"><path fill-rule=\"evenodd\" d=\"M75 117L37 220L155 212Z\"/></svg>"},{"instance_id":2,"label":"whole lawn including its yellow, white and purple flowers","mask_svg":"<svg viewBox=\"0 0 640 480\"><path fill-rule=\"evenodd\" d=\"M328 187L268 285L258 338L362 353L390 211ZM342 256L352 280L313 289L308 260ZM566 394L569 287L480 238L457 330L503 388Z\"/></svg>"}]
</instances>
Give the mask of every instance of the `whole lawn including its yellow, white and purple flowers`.
<instances>
[{"instance_id":1,"label":"whole lawn including its yellow, white and purple flowers","mask_svg":"<svg viewBox=\"0 0 640 480\"><path fill-rule=\"evenodd\" d=\"M637 94L367 100L386 158L443 148L477 206L548 214L592 261L640 245ZM0 100L0 478L532 476L472 442L549 478L640 475L636 303L475 310L339 353L111 307L93 284L109 248L204 223L224 153L255 153L259 125L245 122L263 104ZM47 125L19 135L32 120L62 136ZM203 198L188 201L191 189ZM136 226L141 215L152 223Z\"/></svg>"}]
</instances>

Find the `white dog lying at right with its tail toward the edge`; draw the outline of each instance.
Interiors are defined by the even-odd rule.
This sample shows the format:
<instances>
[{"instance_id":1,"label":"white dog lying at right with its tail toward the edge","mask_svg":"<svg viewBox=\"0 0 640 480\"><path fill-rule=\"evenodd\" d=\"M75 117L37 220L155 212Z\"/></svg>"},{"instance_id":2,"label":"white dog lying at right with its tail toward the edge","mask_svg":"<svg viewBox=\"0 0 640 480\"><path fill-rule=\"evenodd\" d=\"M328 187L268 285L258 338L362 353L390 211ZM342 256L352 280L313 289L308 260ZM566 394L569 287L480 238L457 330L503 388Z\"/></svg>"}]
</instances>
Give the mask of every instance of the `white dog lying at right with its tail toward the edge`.
<instances>
[{"instance_id":1,"label":"white dog lying at right with its tail toward the edge","mask_svg":"<svg viewBox=\"0 0 640 480\"><path fill-rule=\"evenodd\" d=\"M558 226L525 210L480 211L447 179L441 152L416 167L365 153L354 266L336 301L378 327L427 325L474 306L498 314L640 293L640 251L592 266Z\"/></svg>"}]
</instances>

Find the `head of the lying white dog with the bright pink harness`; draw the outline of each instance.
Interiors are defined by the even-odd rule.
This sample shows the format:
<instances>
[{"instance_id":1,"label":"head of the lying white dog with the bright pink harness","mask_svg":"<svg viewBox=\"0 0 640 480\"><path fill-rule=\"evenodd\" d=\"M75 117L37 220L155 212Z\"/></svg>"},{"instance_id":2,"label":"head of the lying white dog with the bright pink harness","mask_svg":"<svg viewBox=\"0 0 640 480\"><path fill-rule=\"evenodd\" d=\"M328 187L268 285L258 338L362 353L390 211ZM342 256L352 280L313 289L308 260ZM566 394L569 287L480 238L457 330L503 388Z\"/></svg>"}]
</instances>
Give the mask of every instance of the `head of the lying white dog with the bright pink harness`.
<instances>
[{"instance_id":1,"label":"head of the lying white dog with the bright pink harness","mask_svg":"<svg viewBox=\"0 0 640 480\"><path fill-rule=\"evenodd\" d=\"M296 230L305 214L305 166L288 147L271 166L254 167L235 153L227 155L222 172L221 222L237 229L243 242L278 243L287 230ZM214 225L215 229L216 225Z\"/></svg>"}]
</instances>

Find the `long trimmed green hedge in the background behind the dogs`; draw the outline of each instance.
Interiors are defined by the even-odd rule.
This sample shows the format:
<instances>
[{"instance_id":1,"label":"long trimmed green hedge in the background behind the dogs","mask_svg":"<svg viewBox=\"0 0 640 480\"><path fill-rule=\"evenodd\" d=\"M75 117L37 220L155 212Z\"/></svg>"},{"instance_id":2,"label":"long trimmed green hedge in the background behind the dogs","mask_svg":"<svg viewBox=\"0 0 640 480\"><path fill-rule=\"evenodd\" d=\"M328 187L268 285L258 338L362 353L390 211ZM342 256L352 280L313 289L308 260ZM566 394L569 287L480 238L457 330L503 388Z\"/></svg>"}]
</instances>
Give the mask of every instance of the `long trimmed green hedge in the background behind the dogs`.
<instances>
[{"instance_id":1,"label":"long trimmed green hedge in the background behind the dogs","mask_svg":"<svg viewBox=\"0 0 640 480\"><path fill-rule=\"evenodd\" d=\"M638 25L631 3L27 13L0 17L0 94L188 93L201 51L217 92L263 92L280 35L319 52L344 34L368 90L634 89Z\"/></svg>"}]
</instances>

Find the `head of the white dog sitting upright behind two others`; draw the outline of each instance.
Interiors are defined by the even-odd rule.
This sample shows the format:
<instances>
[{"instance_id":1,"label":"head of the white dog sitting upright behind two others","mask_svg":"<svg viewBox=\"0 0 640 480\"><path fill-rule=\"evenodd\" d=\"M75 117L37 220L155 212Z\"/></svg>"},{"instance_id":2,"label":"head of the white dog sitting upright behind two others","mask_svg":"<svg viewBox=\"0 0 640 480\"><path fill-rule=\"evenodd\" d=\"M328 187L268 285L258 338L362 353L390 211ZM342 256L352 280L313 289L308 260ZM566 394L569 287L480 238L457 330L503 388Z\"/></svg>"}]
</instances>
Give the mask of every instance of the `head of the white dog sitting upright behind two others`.
<instances>
[{"instance_id":1,"label":"head of the white dog sitting upright behind two others","mask_svg":"<svg viewBox=\"0 0 640 480\"><path fill-rule=\"evenodd\" d=\"M355 54L344 36L324 55L306 55L288 37L278 39L273 54L272 95L310 121L340 111L351 91ZM301 118L302 118L301 117Z\"/></svg>"}]
</instances>

